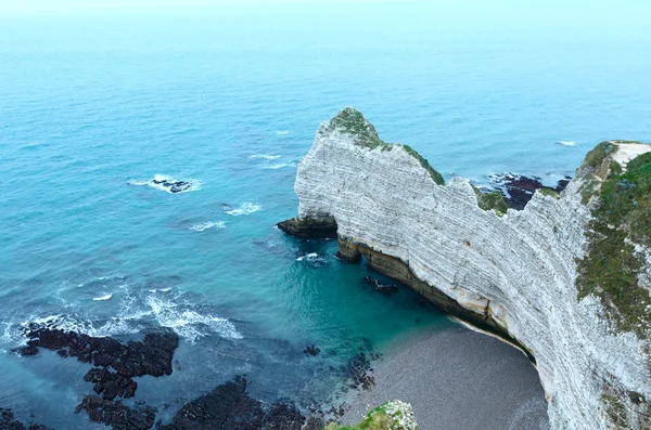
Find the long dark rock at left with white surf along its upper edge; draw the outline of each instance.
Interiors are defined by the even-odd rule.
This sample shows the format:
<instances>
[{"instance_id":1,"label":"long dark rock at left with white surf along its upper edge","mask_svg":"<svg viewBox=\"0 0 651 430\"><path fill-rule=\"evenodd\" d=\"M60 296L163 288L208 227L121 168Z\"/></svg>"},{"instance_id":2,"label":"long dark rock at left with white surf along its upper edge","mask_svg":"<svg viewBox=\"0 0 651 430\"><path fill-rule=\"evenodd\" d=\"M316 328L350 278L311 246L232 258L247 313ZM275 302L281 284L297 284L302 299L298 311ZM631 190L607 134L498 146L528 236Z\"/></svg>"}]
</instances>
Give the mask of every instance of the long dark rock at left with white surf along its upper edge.
<instances>
[{"instance_id":1,"label":"long dark rock at left with white surf along its upper edge","mask_svg":"<svg viewBox=\"0 0 651 430\"><path fill-rule=\"evenodd\" d=\"M105 400L133 396L138 385L132 377L171 375L171 360L179 344L178 335L167 328L145 334L140 342L127 343L40 324L30 324L25 335L29 340L27 347L16 350L21 355L35 355L37 348L46 348L61 356L75 356L81 363L97 366L84 380L93 382L94 391L103 394Z\"/></svg>"}]
</instances>

